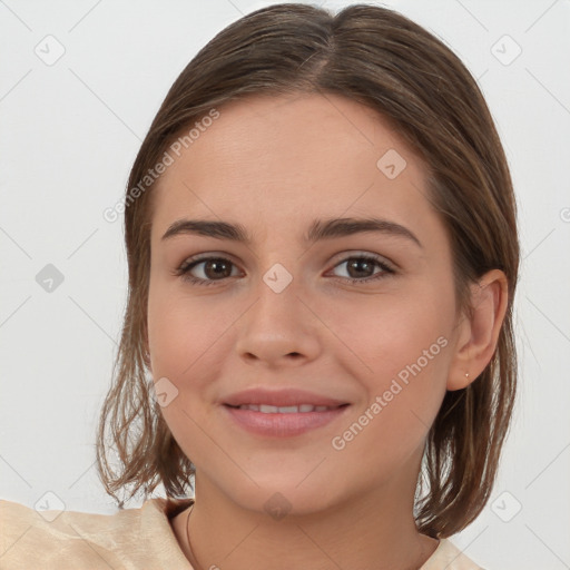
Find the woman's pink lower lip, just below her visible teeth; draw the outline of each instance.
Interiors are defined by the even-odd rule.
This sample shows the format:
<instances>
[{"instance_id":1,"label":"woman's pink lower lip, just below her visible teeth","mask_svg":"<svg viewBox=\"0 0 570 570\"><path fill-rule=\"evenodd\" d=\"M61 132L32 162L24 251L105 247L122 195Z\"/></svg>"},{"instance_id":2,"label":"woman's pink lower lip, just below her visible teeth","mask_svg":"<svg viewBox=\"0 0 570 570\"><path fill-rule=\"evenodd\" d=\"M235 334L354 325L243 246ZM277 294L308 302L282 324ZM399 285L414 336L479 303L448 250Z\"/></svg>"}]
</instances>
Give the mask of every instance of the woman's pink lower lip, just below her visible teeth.
<instances>
[{"instance_id":1,"label":"woman's pink lower lip, just below her visible teeth","mask_svg":"<svg viewBox=\"0 0 570 570\"><path fill-rule=\"evenodd\" d=\"M223 407L238 425L250 433L273 438L291 438L333 422L343 416L350 405L343 405L323 412L298 412L289 414L278 412L266 414L264 412L256 412L255 410L240 410L239 407L232 407L229 405L224 405Z\"/></svg>"}]
</instances>

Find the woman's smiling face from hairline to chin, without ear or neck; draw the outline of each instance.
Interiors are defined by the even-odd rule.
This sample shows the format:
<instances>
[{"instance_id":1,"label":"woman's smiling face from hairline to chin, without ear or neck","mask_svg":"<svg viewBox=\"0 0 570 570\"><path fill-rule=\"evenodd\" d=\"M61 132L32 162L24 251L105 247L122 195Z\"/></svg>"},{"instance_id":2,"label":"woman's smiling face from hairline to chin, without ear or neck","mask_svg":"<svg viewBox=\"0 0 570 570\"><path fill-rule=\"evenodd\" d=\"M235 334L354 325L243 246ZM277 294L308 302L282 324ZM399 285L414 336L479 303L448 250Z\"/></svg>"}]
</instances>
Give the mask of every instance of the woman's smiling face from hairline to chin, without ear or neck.
<instances>
[{"instance_id":1,"label":"woman's smiling face from hairline to chin, without ear or neck","mask_svg":"<svg viewBox=\"0 0 570 570\"><path fill-rule=\"evenodd\" d=\"M255 96L218 111L169 151L151 228L153 376L197 485L298 513L413 494L461 330L422 163L342 97ZM384 222L358 230L365 218ZM164 237L186 219L238 226L248 242L189 225ZM257 387L348 405L309 413L304 431L306 412L226 405Z\"/></svg>"}]
</instances>

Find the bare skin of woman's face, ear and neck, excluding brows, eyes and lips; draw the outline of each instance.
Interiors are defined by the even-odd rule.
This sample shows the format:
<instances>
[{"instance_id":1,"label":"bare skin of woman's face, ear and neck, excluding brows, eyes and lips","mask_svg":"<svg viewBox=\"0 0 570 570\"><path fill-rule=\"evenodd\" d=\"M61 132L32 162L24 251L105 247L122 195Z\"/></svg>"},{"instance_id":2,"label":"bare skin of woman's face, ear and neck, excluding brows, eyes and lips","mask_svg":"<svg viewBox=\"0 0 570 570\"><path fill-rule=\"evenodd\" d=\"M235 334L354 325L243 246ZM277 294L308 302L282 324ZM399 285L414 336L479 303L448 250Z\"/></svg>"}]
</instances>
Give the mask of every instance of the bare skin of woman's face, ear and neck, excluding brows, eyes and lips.
<instances>
[{"instance_id":1,"label":"bare skin of woman's face, ear and neck, excluding brows, eyes and lips","mask_svg":"<svg viewBox=\"0 0 570 570\"><path fill-rule=\"evenodd\" d=\"M332 95L256 95L218 110L154 189L151 371L178 390L161 411L196 465L191 552L188 511L171 521L180 548L203 569L419 568L439 544L412 515L425 438L445 391L489 363L505 277L492 271L473 284L472 318L456 312L451 245L425 197L424 165L371 109ZM406 160L394 179L376 167L389 149ZM405 226L421 246L382 233L302 242L315 218L366 216ZM252 244L161 239L180 218L239 223ZM343 263L363 253L395 273L350 283L382 271ZM174 275L197 254L227 258L230 276L204 263L191 274L210 286ZM263 281L276 263L293 277L281 293ZM332 438L439 337L446 346L335 450ZM350 402L350 413L295 438L253 435L219 402L252 386L306 389ZM264 509L276 492L291 508L281 520Z\"/></svg>"}]
</instances>

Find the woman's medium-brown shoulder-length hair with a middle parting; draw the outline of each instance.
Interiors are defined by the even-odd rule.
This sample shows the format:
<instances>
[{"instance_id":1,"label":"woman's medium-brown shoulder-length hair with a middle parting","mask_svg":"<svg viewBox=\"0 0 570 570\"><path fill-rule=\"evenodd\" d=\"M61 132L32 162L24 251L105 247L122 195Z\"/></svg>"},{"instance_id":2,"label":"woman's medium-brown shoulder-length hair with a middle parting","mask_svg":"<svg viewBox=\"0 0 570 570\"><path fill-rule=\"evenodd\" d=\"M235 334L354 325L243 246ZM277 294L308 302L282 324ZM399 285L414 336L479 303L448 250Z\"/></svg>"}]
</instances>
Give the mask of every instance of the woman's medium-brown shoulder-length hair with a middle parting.
<instances>
[{"instance_id":1,"label":"woman's medium-brown shoulder-length hair with a middle parting","mask_svg":"<svg viewBox=\"0 0 570 570\"><path fill-rule=\"evenodd\" d=\"M116 500L127 485L129 498L140 490L147 498L159 483L168 497L193 489L195 468L166 425L148 380L154 184L136 199L131 190L177 136L213 108L250 94L335 94L379 111L426 165L429 199L452 246L458 306L469 313L468 285L489 269L507 275L508 308L493 357L468 387L445 393L425 443L417 529L434 538L454 534L489 500L515 400L515 202L500 138L468 69L425 29L376 6L353 4L332 14L282 3L252 12L209 41L168 91L127 186L128 299L114 383L99 419L99 476Z\"/></svg>"}]
</instances>

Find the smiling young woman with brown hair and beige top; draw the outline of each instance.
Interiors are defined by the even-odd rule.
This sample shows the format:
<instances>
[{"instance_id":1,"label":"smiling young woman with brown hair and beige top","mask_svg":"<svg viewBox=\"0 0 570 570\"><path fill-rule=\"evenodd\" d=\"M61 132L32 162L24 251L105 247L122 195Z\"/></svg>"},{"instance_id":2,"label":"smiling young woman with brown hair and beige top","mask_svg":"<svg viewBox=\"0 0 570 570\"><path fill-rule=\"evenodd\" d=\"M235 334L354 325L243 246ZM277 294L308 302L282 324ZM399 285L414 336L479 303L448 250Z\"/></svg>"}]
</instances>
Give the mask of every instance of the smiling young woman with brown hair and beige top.
<instances>
[{"instance_id":1,"label":"smiling young woman with brown hair and beige top","mask_svg":"<svg viewBox=\"0 0 570 570\"><path fill-rule=\"evenodd\" d=\"M124 210L98 465L147 500L3 501L2 568L478 569L449 537L511 417L519 245L458 57L380 7L253 12L173 85Z\"/></svg>"}]
</instances>

